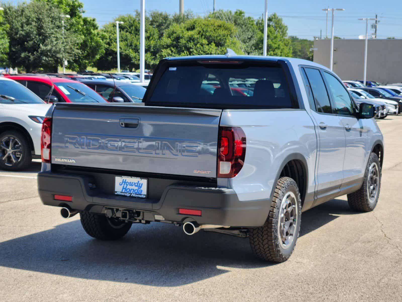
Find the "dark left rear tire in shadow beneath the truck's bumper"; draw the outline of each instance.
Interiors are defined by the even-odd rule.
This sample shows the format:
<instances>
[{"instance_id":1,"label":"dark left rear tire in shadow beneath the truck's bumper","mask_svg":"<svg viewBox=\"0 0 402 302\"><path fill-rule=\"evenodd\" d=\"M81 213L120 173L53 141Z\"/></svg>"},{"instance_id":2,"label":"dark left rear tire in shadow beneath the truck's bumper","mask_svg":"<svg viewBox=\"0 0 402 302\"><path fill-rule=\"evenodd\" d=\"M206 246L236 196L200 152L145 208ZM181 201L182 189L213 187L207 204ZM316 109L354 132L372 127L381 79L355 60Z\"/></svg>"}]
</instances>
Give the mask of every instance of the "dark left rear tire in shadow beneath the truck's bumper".
<instances>
[{"instance_id":1,"label":"dark left rear tire in shadow beneath the truck's bumper","mask_svg":"<svg viewBox=\"0 0 402 302\"><path fill-rule=\"evenodd\" d=\"M80 212L82 228L86 234L100 240L117 240L131 228L131 222L113 220L105 215L97 215L88 211Z\"/></svg>"}]
</instances>

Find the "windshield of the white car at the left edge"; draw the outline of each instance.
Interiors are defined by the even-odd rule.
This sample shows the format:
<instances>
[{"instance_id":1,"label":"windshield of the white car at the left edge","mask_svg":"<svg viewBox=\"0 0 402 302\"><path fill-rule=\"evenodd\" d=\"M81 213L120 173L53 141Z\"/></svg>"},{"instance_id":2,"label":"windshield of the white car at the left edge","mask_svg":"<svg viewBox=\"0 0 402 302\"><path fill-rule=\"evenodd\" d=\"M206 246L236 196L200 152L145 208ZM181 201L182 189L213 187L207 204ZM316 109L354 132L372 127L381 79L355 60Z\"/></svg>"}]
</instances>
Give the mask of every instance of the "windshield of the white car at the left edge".
<instances>
[{"instance_id":1,"label":"windshield of the white car at the left edge","mask_svg":"<svg viewBox=\"0 0 402 302\"><path fill-rule=\"evenodd\" d=\"M0 81L0 103L1 104L43 104L35 93L27 87L14 81Z\"/></svg>"}]
</instances>

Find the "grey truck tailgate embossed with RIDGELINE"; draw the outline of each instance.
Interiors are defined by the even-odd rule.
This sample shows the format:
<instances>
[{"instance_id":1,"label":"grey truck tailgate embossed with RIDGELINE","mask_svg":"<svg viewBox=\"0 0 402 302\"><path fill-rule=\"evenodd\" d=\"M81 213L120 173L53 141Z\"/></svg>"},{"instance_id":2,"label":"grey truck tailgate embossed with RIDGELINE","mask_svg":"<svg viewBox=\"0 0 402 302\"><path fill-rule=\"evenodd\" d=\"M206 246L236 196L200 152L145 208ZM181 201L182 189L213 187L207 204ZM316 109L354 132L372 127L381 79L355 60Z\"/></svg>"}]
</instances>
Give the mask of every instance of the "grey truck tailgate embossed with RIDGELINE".
<instances>
[{"instance_id":1,"label":"grey truck tailgate embossed with RIDGELINE","mask_svg":"<svg viewBox=\"0 0 402 302\"><path fill-rule=\"evenodd\" d=\"M52 116L51 163L215 178L221 113L58 103Z\"/></svg>"}]
</instances>

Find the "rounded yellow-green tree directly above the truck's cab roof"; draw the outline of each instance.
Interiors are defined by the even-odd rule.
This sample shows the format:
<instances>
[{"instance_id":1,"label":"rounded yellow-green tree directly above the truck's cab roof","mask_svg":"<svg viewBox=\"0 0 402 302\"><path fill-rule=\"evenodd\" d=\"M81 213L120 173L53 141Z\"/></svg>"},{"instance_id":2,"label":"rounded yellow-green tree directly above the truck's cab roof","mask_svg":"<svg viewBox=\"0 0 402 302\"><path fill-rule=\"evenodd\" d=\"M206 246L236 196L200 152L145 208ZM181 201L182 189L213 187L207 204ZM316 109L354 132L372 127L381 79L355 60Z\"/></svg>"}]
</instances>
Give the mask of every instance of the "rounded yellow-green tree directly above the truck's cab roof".
<instances>
[{"instance_id":1,"label":"rounded yellow-green tree directly above the truck's cab roof","mask_svg":"<svg viewBox=\"0 0 402 302\"><path fill-rule=\"evenodd\" d=\"M168 56L224 54L226 48L242 54L233 24L216 19L191 19L172 24L159 43L158 60Z\"/></svg>"}]
</instances>

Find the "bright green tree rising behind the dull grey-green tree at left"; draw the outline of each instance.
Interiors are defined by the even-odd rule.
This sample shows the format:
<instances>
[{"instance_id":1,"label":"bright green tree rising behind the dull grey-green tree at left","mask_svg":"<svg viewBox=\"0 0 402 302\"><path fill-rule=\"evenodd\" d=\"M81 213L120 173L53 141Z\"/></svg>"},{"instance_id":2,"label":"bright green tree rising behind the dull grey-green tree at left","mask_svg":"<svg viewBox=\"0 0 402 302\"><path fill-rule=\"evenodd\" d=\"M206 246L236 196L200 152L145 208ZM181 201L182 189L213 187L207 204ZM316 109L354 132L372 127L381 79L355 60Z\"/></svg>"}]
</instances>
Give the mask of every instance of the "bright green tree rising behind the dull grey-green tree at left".
<instances>
[{"instance_id":1,"label":"bright green tree rising behind the dull grey-green tree at left","mask_svg":"<svg viewBox=\"0 0 402 302\"><path fill-rule=\"evenodd\" d=\"M98 29L96 19L83 17L85 12L84 4L79 0L34 0L39 3L53 4L59 8L62 14L67 14L70 18L64 19L65 36L74 35L76 37L76 56L68 62L68 68L78 71L84 70L88 66L94 66L98 58L105 52L103 33Z\"/></svg>"}]
</instances>

